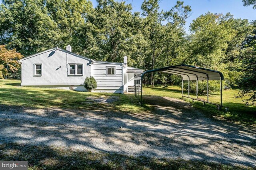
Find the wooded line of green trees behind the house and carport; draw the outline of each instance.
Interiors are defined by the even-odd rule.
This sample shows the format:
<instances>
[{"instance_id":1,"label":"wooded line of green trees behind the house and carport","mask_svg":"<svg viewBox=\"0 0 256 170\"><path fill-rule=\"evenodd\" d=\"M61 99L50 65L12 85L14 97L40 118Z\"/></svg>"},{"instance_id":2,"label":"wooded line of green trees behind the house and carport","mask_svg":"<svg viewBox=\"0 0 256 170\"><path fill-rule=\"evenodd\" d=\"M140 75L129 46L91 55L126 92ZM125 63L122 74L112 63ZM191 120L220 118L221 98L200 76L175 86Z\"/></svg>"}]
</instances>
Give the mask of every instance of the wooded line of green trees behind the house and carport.
<instances>
[{"instance_id":1,"label":"wooded line of green trees behind the house and carport","mask_svg":"<svg viewBox=\"0 0 256 170\"><path fill-rule=\"evenodd\" d=\"M93 8L89 0L2 0L0 45L27 56L70 44L74 53L96 60L122 62L126 55L129 66L143 70L182 63L219 70L228 86L253 94L255 102L256 21L208 12L193 20L188 34L192 9L182 1L162 11L159 0L144 0L141 13L125 1L97 2ZM147 79L176 80L158 73Z\"/></svg>"}]
</instances>

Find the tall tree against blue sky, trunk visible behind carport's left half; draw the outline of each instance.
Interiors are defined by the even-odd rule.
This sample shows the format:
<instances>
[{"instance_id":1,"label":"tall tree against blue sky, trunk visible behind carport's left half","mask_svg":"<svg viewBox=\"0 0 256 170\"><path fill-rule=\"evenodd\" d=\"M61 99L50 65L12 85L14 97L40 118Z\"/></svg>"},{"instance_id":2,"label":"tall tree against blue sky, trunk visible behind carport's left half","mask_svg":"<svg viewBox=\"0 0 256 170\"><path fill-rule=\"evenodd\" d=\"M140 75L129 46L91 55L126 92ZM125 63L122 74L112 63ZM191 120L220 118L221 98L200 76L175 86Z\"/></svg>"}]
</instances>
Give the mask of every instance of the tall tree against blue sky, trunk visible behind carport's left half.
<instances>
[{"instance_id":1,"label":"tall tree against blue sky, trunk visible behind carport's left half","mask_svg":"<svg viewBox=\"0 0 256 170\"><path fill-rule=\"evenodd\" d=\"M159 0L144 0L141 9L144 19L143 35L148 41L148 53L146 53L146 69L154 69L159 61L166 61L161 56L164 52L170 58L170 47L174 45L177 36L183 39L186 18L190 16L190 6L184 6L183 2L177 1L176 6L170 11L159 12ZM167 24L163 25L167 20ZM179 43L177 44L179 45ZM174 50L172 51L174 54ZM163 63L163 62L160 62ZM158 63L159 64L159 63ZM162 65L163 64L159 64ZM151 73L150 84L154 85L153 73Z\"/></svg>"}]
</instances>

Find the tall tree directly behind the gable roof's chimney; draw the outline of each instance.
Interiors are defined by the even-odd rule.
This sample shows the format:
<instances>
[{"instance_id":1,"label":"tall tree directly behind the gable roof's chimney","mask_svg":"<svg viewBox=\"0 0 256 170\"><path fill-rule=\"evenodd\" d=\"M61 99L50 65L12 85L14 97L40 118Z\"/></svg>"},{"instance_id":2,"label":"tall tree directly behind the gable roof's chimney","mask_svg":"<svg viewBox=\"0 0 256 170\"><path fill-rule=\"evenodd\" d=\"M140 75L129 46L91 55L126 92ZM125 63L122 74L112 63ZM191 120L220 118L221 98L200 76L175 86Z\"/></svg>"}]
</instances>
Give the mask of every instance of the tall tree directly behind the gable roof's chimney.
<instances>
[{"instance_id":1,"label":"tall tree directly behind the gable roof's chimney","mask_svg":"<svg viewBox=\"0 0 256 170\"><path fill-rule=\"evenodd\" d=\"M58 31L55 46L65 48L70 44L76 53L88 50L92 27L88 18L94 12L88 0L46 0L48 16L56 23Z\"/></svg>"}]
</instances>

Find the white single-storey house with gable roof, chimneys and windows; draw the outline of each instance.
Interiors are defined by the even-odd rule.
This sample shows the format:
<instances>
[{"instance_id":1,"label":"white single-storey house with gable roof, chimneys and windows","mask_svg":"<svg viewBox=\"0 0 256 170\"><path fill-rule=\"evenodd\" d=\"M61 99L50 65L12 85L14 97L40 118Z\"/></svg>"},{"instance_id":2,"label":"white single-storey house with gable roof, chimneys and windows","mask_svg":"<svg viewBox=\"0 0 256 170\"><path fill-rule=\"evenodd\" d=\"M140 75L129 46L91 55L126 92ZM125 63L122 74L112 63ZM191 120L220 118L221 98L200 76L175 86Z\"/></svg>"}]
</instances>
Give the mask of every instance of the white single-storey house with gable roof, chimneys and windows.
<instances>
[{"instance_id":1,"label":"white single-storey house with gable roof, chimneys and windows","mask_svg":"<svg viewBox=\"0 0 256 170\"><path fill-rule=\"evenodd\" d=\"M94 92L124 93L133 90L134 75L142 73L138 68L124 63L95 61L58 47L36 53L20 60L21 86L42 86L86 91L84 79L93 76L97 81Z\"/></svg>"}]
</instances>

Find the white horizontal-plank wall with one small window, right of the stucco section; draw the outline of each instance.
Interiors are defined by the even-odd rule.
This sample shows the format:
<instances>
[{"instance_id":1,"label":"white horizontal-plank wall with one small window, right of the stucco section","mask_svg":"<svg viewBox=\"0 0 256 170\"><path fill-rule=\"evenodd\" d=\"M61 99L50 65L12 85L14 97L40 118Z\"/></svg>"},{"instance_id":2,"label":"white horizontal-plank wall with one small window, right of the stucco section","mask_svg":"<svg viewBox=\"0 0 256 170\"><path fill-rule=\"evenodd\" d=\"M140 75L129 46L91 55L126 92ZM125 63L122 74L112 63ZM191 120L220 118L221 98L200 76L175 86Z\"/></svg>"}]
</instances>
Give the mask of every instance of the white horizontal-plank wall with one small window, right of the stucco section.
<instances>
[{"instance_id":1,"label":"white horizontal-plank wall with one small window, right of the stucco section","mask_svg":"<svg viewBox=\"0 0 256 170\"><path fill-rule=\"evenodd\" d=\"M115 76L107 76L106 68L108 66L116 67ZM122 63L99 62L92 64L92 76L97 81L97 88L94 91L98 92L123 92L123 72Z\"/></svg>"}]
</instances>

